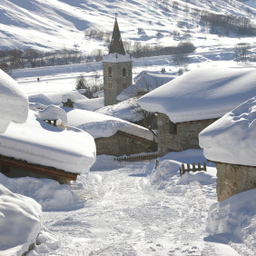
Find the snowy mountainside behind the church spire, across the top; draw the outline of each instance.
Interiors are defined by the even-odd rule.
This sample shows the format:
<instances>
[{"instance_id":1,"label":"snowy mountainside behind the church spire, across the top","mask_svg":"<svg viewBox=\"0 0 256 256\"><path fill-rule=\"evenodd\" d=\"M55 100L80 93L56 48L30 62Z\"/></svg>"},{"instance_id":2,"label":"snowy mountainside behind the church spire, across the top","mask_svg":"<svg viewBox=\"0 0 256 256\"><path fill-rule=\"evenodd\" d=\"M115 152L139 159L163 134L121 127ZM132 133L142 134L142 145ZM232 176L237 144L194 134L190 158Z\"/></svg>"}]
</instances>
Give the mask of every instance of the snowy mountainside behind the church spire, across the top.
<instances>
[{"instance_id":1,"label":"snowy mountainside behind the church spire, across the top","mask_svg":"<svg viewBox=\"0 0 256 256\"><path fill-rule=\"evenodd\" d=\"M207 36L207 44L216 44L218 36L210 34L211 25L202 14L246 17L253 25L253 4L254 0L0 0L0 49L104 51L115 14L124 41L172 45L190 40L199 46L206 44ZM230 33L229 29L223 35Z\"/></svg>"}]
</instances>

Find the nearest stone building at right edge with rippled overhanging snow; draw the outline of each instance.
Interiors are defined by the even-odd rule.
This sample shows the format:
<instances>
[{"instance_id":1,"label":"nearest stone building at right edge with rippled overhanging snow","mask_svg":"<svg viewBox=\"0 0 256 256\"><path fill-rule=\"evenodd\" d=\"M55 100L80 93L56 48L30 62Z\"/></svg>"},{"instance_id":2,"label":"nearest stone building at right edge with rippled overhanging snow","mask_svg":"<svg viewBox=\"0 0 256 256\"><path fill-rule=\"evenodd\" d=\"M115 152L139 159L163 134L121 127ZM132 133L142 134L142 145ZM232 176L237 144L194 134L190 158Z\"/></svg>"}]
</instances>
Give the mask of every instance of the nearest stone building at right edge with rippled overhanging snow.
<instances>
[{"instance_id":1,"label":"nearest stone building at right edge with rippled overhanging snow","mask_svg":"<svg viewBox=\"0 0 256 256\"><path fill-rule=\"evenodd\" d=\"M256 97L212 123L199 135L204 156L217 168L218 201L256 189Z\"/></svg>"}]
</instances>

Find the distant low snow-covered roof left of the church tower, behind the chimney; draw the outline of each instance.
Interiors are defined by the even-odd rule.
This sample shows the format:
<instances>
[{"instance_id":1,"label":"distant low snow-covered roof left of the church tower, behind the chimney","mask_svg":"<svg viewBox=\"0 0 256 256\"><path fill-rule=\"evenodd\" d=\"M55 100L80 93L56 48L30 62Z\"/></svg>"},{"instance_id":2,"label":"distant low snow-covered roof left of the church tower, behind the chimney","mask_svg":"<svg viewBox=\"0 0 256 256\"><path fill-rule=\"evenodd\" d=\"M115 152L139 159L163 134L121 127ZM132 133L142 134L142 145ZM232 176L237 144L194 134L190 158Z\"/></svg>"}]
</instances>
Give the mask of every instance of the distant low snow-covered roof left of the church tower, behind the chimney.
<instances>
[{"instance_id":1,"label":"distant low snow-covered roof left of the church tower, behind the chimney","mask_svg":"<svg viewBox=\"0 0 256 256\"><path fill-rule=\"evenodd\" d=\"M71 99L73 102L84 100L86 97L83 94L79 94L78 91L54 93L54 94L34 94L29 96L30 103L42 103L44 105L59 105L66 102L67 99Z\"/></svg>"}]
</instances>

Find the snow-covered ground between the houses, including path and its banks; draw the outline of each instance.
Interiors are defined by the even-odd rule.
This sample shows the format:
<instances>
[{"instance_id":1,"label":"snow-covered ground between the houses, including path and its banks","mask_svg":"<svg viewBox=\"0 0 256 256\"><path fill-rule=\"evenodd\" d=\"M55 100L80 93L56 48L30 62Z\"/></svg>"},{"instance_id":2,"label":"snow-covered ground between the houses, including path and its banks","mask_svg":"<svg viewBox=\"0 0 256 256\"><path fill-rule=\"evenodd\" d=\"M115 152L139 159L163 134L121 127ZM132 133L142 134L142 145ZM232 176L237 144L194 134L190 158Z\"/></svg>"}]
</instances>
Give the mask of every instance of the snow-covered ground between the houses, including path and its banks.
<instances>
[{"instance_id":1,"label":"snow-covered ground between the houses, including path and its banks","mask_svg":"<svg viewBox=\"0 0 256 256\"><path fill-rule=\"evenodd\" d=\"M155 170L155 161L99 156L92 172L72 183L71 192L54 181L0 176L6 187L43 206L44 228L28 255L253 255L255 205L243 212L243 204L234 203L246 195L216 203L212 163L207 172L180 177L181 162L205 161L202 150L170 153L159 161ZM226 205L240 217L233 222L233 215L221 216L222 231L208 211L227 212Z\"/></svg>"}]
</instances>

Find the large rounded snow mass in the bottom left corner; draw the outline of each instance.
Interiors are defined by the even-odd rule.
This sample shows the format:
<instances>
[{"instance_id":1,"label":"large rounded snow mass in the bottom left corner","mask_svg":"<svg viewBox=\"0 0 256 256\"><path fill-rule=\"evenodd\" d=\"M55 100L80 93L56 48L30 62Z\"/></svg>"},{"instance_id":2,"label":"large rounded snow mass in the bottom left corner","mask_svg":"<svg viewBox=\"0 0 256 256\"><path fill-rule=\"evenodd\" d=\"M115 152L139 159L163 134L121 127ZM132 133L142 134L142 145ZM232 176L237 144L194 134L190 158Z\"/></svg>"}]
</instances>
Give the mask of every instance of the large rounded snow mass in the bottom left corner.
<instances>
[{"instance_id":1,"label":"large rounded snow mass in the bottom left corner","mask_svg":"<svg viewBox=\"0 0 256 256\"><path fill-rule=\"evenodd\" d=\"M23 255L42 227L42 208L0 183L0 255Z\"/></svg>"}]
</instances>

